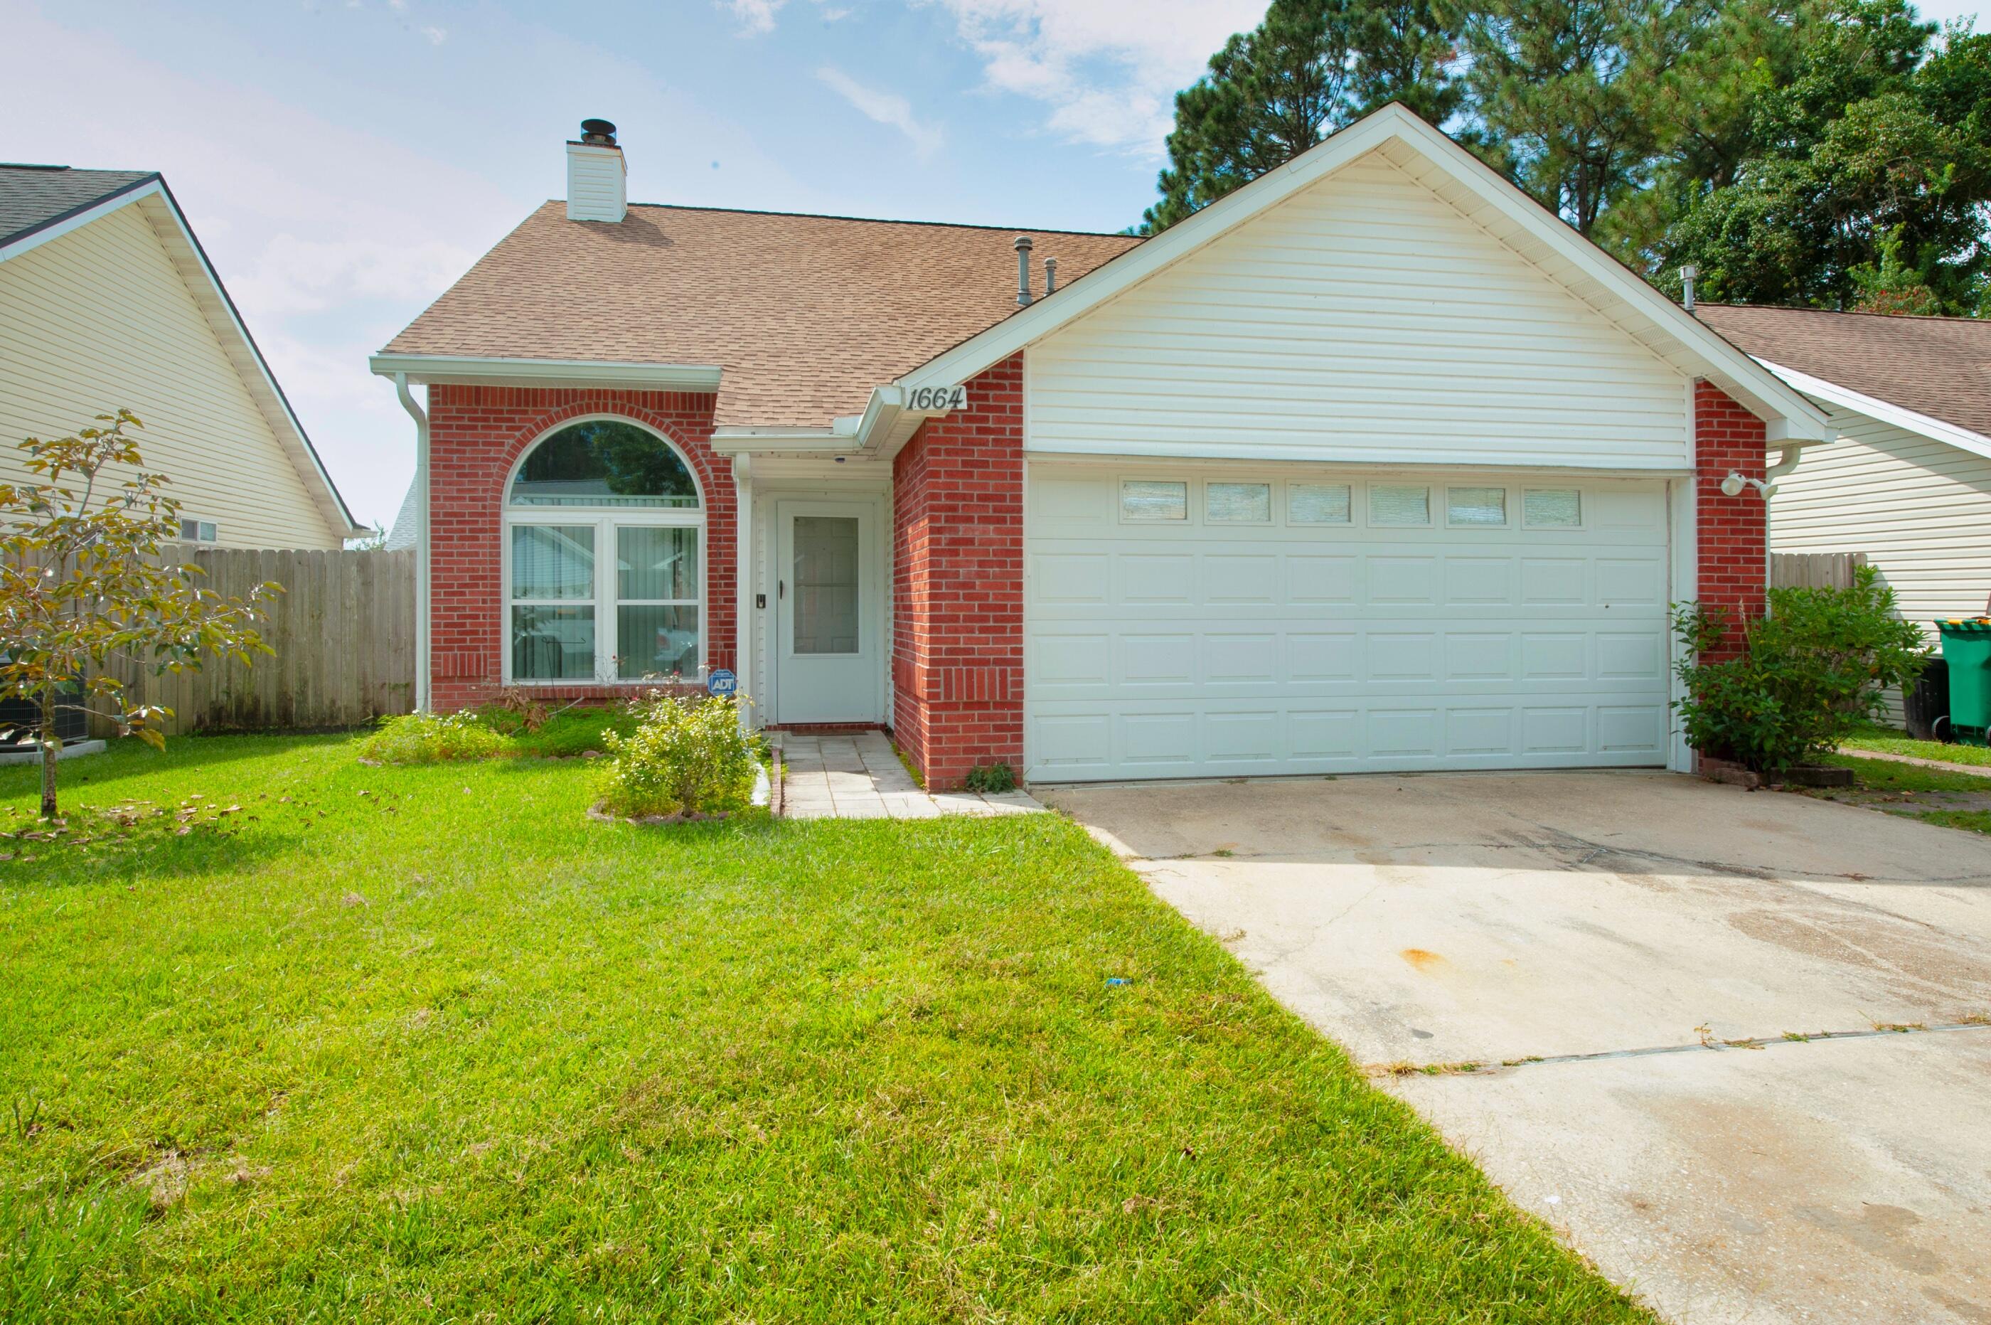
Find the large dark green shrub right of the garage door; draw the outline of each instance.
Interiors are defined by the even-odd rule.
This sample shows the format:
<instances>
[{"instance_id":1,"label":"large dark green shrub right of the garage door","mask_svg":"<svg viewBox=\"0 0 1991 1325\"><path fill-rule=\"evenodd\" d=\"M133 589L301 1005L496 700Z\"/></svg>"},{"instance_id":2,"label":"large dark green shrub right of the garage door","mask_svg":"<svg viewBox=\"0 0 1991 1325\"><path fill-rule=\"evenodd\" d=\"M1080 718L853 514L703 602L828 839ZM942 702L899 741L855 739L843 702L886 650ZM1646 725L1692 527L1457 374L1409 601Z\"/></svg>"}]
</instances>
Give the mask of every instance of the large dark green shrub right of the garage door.
<instances>
[{"instance_id":1,"label":"large dark green shrub right of the garage door","mask_svg":"<svg viewBox=\"0 0 1991 1325\"><path fill-rule=\"evenodd\" d=\"M1846 590L1770 590L1770 610L1742 628L1742 652L1702 662L1728 642L1728 614L1674 604L1686 644L1676 699L1686 743L1702 755L1776 773L1820 755L1868 725L1881 695L1927 662L1913 622L1893 612L1893 590L1872 566Z\"/></svg>"}]
</instances>

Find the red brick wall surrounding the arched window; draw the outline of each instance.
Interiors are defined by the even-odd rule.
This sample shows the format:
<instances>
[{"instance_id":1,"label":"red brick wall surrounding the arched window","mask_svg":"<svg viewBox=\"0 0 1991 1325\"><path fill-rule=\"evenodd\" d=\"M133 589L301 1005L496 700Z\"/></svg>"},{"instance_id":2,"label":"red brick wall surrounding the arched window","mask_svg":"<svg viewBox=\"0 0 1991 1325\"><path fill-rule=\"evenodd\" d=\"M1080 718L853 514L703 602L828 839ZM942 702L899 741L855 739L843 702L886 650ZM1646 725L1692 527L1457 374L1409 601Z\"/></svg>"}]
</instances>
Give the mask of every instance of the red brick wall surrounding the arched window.
<instances>
[{"instance_id":1,"label":"red brick wall surrounding the arched window","mask_svg":"<svg viewBox=\"0 0 1991 1325\"><path fill-rule=\"evenodd\" d=\"M657 428L691 460L705 496L705 660L733 667L733 472L713 454L713 397L665 391L430 387L430 703L448 713L504 683L504 480L548 430L585 414ZM548 697L629 687L534 687Z\"/></svg>"}]
</instances>

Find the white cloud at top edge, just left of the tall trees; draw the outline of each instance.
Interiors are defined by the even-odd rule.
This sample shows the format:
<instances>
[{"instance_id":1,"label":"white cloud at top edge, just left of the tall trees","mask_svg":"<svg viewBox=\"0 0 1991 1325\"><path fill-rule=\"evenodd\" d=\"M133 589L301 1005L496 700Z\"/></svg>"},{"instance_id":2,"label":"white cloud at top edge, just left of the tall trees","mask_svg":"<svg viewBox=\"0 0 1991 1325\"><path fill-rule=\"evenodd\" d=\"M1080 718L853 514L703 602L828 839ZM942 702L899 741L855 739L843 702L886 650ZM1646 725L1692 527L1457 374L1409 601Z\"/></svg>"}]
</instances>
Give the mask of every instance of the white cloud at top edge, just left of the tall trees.
<instances>
[{"instance_id":1,"label":"white cloud at top edge, just left of the tall trees","mask_svg":"<svg viewBox=\"0 0 1991 1325\"><path fill-rule=\"evenodd\" d=\"M1161 151L1175 92L1264 16L1264 0L916 2L954 16L990 88L1047 104L1051 132L1145 153Z\"/></svg>"}]
</instances>

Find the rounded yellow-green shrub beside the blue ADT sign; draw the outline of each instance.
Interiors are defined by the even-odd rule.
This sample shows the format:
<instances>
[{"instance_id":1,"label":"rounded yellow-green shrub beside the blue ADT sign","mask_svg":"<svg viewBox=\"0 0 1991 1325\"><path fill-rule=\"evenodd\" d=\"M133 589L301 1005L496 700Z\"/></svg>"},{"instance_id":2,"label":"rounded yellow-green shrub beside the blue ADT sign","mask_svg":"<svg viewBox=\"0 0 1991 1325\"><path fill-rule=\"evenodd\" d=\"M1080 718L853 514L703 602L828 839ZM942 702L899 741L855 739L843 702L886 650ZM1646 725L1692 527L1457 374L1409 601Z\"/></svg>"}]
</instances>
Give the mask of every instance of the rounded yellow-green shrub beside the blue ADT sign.
<instances>
[{"instance_id":1,"label":"rounded yellow-green shrub beside the blue ADT sign","mask_svg":"<svg viewBox=\"0 0 1991 1325\"><path fill-rule=\"evenodd\" d=\"M605 731L601 807L619 817L717 815L753 803L755 757L733 699L677 699L651 691L631 701L635 731Z\"/></svg>"}]
</instances>

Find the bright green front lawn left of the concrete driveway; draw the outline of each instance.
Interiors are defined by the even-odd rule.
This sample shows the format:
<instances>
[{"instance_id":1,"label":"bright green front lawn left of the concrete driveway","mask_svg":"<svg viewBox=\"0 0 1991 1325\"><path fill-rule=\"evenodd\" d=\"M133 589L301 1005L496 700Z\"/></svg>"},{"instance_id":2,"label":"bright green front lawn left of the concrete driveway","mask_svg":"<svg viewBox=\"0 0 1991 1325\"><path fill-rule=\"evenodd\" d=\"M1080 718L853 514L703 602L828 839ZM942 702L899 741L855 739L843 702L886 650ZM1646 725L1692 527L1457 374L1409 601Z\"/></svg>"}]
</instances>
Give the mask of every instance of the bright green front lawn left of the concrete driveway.
<instances>
[{"instance_id":1,"label":"bright green front lawn left of the concrete driveway","mask_svg":"<svg viewBox=\"0 0 1991 1325\"><path fill-rule=\"evenodd\" d=\"M0 1319L1649 1319L1071 823L354 745L0 843Z\"/></svg>"}]
</instances>

